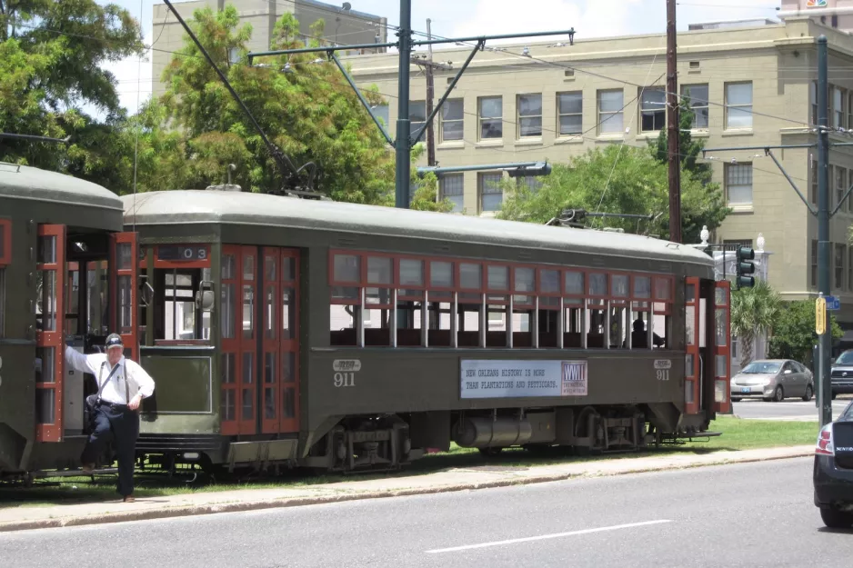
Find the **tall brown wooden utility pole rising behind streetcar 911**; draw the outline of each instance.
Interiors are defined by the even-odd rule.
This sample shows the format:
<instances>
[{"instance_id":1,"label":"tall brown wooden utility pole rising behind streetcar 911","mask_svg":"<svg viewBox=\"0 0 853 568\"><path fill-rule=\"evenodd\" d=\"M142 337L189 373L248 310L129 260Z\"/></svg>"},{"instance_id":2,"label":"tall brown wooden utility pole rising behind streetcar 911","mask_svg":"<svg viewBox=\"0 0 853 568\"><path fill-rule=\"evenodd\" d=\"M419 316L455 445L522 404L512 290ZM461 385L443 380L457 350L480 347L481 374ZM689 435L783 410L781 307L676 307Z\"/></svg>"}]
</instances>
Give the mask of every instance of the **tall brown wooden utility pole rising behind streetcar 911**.
<instances>
[{"instance_id":1,"label":"tall brown wooden utility pole rising behind streetcar 911","mask_svg":"<svg viewBox=\"0 0 853 568\"><path fill-rule=\"evenodd\" d=\"M681 242L681 138L678 125L676 0L667 0L667 145L669 154L669 240Z\"/></svg>"}]
</instances>

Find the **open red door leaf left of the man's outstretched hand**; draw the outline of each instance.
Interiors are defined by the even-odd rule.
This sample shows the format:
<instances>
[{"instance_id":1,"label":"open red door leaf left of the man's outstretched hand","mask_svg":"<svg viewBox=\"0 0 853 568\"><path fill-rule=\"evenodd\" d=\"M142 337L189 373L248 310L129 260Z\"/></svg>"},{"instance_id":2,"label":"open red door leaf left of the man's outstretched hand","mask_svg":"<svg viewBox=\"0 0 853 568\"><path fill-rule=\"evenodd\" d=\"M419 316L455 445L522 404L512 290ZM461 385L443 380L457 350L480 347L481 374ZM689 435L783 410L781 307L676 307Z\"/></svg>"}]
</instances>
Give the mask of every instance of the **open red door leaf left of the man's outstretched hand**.
<instances>
[{"instance_id":1,"label":"open red door leaf left of the man's outstretched hand","mask_svg":"<svg viewBox=\"0 0 853 568\"><path fill-rule=\"evenodd\" d=\"M65 225L40 224L35 269L35 438L62 442Z\"/></svg>"}]
</instances>

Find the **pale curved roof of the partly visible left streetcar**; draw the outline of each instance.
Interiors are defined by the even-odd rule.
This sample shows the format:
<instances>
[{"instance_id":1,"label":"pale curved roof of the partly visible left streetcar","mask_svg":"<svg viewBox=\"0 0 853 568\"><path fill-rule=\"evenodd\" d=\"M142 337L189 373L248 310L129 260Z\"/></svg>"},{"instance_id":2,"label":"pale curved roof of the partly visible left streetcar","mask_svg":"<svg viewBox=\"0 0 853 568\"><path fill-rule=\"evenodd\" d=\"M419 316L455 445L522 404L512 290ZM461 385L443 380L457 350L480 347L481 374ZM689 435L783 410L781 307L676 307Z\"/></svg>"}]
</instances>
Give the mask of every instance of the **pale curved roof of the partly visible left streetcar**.
<instances>
[{"instance_id":1,"label":"pale curved roof of the partly visible left streetcar","mask_svg":"<svg viewBox=\"0 0 853 568\"><path fill-rule=\"evenodd\" d=\"M122 210L118 195L71 175L0 162L0 197Z\"/></svg>"}]
</instances>

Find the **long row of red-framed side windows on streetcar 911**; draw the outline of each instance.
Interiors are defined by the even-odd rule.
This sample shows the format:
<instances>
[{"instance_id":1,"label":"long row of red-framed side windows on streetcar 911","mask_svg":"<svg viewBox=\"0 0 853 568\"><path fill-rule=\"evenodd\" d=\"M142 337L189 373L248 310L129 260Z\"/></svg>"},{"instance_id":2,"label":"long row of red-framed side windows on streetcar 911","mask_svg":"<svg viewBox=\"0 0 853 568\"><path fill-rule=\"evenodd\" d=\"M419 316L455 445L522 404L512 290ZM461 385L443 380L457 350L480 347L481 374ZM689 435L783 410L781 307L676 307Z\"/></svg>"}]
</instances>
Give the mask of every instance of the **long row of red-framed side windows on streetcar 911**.
<instances>
[{"instance_id":1,"label":"long row of red-framed side windows on streetcar 911","mask_svg":"<svg viewBox=\"0 0 853 568\"><path fill-rule=\"evenodd\" d=\"M331 345L668 346L671 276L351 251L329 260Z\"/></svg>"}]
</instances>

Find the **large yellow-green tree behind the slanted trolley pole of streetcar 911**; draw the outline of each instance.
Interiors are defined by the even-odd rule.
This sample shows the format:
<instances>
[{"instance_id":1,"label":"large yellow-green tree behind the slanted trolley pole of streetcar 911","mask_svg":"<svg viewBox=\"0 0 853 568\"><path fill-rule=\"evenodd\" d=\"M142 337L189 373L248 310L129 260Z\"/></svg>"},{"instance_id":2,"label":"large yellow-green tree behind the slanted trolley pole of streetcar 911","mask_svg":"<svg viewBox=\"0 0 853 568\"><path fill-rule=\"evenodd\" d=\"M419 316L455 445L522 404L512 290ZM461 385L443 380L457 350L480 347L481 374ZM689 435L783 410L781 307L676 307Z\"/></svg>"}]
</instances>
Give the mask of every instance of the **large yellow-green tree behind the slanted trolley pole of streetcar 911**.
<instances>
[{"instance_id":1,"label":"large yellow-green tree behind the slanted trolley pole of streetcar 911","mask_svg":"<svg viewBox=\"0 0 853 568\"><path fill-rule=\"evenodd\" d=\"M196 10L188 23L266 135L297 167L316 164L319 191L337 201L386 201L394 156L336 65L310 54L270 56L246 65L252 28L239 25L233 5L216 13L210 7ZM322 35L322 26L313 26L312 35ZM283 15L271 47L302 47L298 36L296 18ZM186 135L188 183L219 183L227 165L239 160L235 183L251 191L280 186L281 172L254 125L188 37L163 76L168 87L161 103L170 125ZM371 104L381 101L373 90L365 96Z\"/></svg>"}]
</instances>

